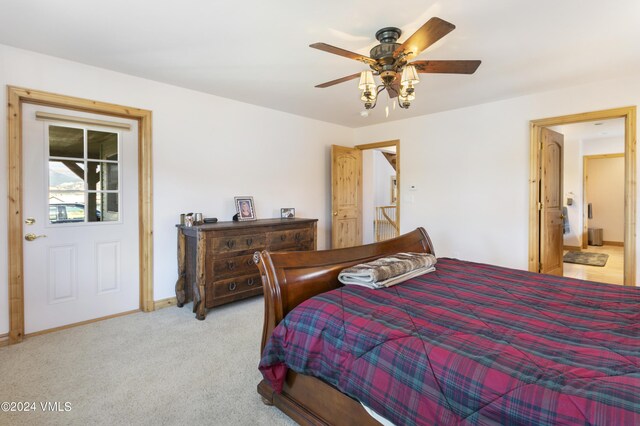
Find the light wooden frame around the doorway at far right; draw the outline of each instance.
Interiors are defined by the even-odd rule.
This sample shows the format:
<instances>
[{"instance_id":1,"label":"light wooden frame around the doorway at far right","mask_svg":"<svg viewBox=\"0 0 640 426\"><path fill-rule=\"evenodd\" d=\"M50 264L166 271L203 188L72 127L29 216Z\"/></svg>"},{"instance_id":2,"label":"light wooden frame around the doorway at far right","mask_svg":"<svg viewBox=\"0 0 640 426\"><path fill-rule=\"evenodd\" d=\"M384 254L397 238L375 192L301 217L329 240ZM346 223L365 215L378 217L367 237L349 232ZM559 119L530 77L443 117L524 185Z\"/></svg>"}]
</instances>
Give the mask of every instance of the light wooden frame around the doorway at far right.
<instances>
[{"instance_id":1,"label":"light wooden frame around the doorway at far right","mask_svg":"<svg viewBox=\"0 0 640 426\"><path fill-rule=\"evenodd\" d=\"M538 138L542 127L588 121L624 118L624 285L635 286L636 281L636 107L613 108L560 117L543 118L529 122L529 271L538 272L540 258L540 152ZM564 194L563 194L564 197Z\"/></svg>"}]
</instances>

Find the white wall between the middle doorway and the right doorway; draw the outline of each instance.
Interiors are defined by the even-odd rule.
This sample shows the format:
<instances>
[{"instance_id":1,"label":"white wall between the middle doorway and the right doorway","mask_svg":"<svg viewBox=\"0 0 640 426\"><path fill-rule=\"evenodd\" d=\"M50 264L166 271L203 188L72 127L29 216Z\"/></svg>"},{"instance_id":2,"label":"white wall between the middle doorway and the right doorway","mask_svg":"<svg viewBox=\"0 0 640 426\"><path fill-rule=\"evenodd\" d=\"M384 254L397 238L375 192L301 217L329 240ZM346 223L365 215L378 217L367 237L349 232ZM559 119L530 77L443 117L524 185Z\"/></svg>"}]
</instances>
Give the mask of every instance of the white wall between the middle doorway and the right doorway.
<instances>
[{"instance_id":1,"label":"white wall between the middle doorway and the right doorway","mask_svg":"<svg viewBox=\"0 0 640 426\"><path fill-rule=\"evenodd\" d=\"M364 127L356 143L400 139L403 232L425 227L439 256L527 269L529 121L638 103L640 78L608 80Z\"/></svg>"}]
</instances>

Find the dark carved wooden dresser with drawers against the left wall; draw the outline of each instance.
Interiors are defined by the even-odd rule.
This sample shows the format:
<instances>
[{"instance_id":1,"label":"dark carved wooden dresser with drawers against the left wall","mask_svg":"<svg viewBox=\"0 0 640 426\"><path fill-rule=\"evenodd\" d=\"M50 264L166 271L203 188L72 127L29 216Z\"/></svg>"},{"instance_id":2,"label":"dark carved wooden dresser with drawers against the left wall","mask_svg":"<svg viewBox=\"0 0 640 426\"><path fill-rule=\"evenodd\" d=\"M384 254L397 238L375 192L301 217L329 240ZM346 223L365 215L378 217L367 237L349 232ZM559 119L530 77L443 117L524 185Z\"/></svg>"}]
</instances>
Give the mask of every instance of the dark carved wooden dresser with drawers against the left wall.
<instances>
[{"instance_id":1,"label":"dark carved wooden dresser with drawers against the left wall","mask_svg":"<svg viewBox=\"0 0 640 426\"><path fill-rule=\"evenodd\" d=\"M178 306L207 308L262 294L256 251L315 250L317 219L262 219L178 226Z\"/></svg>"}]
</instances>

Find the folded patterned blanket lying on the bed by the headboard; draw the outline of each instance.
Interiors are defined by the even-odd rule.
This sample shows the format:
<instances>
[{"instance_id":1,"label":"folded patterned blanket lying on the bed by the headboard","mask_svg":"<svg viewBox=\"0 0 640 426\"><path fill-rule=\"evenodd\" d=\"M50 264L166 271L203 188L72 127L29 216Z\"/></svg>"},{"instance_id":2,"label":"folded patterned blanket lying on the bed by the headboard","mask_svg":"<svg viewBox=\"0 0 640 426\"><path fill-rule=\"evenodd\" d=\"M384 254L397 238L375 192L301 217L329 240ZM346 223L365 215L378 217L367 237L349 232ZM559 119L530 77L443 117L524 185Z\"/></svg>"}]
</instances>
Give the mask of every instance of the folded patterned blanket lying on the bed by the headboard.
<instances>
[{"instance_id":1,"label":"folded patterned blanket lying on the bed by the headboard","mask_svg":"<svg viewBox=\"0 0 640 426\"><path fill-rule=\"evenodd\" d=\"M393 256L343 269L338 280L369 288L390 287L409 278L435 271L437 260L427 253L397 253Z\"/></svg>"}]
</instances>

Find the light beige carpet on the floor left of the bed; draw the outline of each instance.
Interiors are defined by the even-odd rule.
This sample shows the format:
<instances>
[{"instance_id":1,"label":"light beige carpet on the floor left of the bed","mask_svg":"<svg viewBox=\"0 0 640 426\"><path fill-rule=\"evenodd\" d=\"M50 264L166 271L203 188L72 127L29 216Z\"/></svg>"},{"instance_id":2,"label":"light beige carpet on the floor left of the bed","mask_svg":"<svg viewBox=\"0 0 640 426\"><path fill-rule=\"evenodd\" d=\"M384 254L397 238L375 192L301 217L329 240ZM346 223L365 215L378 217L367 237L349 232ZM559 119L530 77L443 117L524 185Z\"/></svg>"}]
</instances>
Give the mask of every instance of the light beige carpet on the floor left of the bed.
<instances>
[{"instance_id":1,"label":"light beige carpet on the floor left of the bed","mask_svg":"<svg viewBox=\"0 0 640 426\"><path fill-rule=\"evenodd\" d=\"M0 348L0 425L292 425L256 393L260 297L210 310L136 313ZM59 402L66 412L43 412Z\"/></svg>"}]
</instances>

